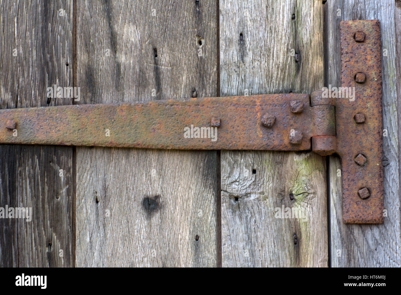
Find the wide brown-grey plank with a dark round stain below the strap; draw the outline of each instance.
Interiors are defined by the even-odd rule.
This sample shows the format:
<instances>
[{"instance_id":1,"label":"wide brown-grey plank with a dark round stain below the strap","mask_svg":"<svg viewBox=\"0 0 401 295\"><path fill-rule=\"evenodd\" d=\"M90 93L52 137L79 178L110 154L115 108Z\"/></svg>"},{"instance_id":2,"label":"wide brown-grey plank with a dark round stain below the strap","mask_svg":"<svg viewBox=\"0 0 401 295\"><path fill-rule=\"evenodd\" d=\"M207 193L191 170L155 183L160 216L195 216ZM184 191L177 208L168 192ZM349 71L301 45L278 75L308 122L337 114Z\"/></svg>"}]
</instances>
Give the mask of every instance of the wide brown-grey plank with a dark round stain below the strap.
<instances>
[{"instance_id":1,"label":"wide brown-grey plank with a dark round stain below the strap","mask_svg":"<svg viewBox=\"0 0 401 295\"><path fill-rule=\"evenodd\" d=\"M77 14L82 103L216 96L214 1ZM216 266L217 175L216 151L77 148L77 266Z\"/></svg>"}]
</instances>

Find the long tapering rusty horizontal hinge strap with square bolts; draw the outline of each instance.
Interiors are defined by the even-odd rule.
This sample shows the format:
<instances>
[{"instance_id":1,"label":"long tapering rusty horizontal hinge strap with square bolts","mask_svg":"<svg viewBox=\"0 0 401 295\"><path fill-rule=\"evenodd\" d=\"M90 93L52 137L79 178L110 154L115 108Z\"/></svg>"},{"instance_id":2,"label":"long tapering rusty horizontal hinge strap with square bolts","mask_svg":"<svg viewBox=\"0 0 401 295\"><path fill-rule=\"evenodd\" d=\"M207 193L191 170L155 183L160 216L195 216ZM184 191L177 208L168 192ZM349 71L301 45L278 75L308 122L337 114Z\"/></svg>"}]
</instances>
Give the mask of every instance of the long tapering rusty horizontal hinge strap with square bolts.
<instances>
[{"instance_id":1,"label":"long tapering rusty horizontal hinge strap with square bolts","mask_svg":"<svg viewBox=\"0 0 401 295\"><path fill-rule=\"evenodd\" d=\"M308 94L190 98L0 110L0 143L302 151L311 126Z\"/></svg>"}]
</instances>

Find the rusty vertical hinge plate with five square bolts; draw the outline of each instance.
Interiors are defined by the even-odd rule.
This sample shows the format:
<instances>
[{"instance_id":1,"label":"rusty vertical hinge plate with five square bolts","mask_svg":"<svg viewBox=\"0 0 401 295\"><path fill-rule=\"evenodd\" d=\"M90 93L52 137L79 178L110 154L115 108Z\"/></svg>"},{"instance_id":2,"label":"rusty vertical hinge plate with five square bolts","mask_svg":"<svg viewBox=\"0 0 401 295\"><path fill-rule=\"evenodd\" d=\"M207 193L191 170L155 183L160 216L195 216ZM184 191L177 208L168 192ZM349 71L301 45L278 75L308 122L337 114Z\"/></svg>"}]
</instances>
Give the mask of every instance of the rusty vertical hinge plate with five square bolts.
<instances>
[{"instance_id":1,"label":"rusty vertical hinge plate with five square bolts","mask_svg":"<svg viewBox=\"0 0 401 295\"><path fill-rule=\"evenodd\" d=\"M342 161L342 219L345 223L382 223L379 20L342 21L340 47L341 87L354 91L353 98L336 101L337 153Z\"/></svg>"}]
</instances>

